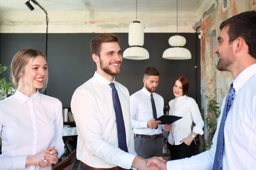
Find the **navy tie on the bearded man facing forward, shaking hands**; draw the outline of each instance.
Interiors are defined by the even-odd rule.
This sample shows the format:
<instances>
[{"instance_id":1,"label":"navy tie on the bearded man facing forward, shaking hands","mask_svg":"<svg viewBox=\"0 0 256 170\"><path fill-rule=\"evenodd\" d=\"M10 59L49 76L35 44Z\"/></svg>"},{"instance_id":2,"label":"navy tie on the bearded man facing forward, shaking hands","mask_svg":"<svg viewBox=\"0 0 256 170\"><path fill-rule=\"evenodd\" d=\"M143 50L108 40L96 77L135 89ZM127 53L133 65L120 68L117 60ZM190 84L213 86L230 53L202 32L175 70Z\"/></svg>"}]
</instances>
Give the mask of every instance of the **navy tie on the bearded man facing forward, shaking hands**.
<instances>
[{"instance_id":1,"label":"navy tie on the bearded man facing forward, shaking hands","mask_svg":"<svg viewBox=\"0 0 256 170\"><path fill-rule=\"evenodd\" d=\"M114 110L116 115L118 147L121 150L128 152L128 148L126 144L124 117L123 117L123 112L122 112L120 100L118 97L117 89L115 88L114 83L110 83L109 86L112 88L112 99L113 99L113 105L114 105Z\"/></svg>"}]
</instances>

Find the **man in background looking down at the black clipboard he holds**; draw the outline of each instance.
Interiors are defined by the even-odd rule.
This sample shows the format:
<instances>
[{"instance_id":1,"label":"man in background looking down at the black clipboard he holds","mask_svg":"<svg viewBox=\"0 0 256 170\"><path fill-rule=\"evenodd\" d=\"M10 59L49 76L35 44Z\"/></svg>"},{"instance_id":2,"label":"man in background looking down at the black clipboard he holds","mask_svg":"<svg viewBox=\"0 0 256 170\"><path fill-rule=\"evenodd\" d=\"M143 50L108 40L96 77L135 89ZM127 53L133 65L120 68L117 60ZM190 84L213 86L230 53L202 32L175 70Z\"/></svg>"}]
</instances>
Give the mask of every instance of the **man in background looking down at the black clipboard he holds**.
<instances>
[{"instance_id":1,"label":"man in background looking down at the black clipboard he holds","mask_svg":"<svg viewBox=\"0 0 256 170\"><path fill-rule=\"evenodd\" d=\"M154 67L144 71L144 87L130 96L130 113L135 133L135 151L145 159L162 157L164 136L162 130L170 131L172 125L159 125L155 120L164 115L164 99L155 93L159 72Z\"/></svg>"}]
</instances>

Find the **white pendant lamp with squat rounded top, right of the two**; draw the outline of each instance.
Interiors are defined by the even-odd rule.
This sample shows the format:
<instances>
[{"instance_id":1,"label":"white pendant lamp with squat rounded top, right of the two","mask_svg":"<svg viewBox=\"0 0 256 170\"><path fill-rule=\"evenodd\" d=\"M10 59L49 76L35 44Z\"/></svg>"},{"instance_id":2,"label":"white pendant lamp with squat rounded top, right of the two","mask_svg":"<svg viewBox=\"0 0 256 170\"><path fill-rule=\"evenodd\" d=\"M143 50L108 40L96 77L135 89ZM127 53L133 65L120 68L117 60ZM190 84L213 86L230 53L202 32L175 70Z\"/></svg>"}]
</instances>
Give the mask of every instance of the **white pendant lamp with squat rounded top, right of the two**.
<instances>
[{"instance_id":1,"label":"white pendant lamp with squat rounded top, right of the two","mask_svg":"<svg viewBox=\"0 0 256 170\"><path fill-rule=\"evenodd\" d=\"M186 60L191 59L191 53L188 49L183 48L186 44L186 38L178 34L178 0L177 2L177 34L169 38L168 42L171 48L166 49L163 58L170 60Z\"/></svg>"}]
</instances>

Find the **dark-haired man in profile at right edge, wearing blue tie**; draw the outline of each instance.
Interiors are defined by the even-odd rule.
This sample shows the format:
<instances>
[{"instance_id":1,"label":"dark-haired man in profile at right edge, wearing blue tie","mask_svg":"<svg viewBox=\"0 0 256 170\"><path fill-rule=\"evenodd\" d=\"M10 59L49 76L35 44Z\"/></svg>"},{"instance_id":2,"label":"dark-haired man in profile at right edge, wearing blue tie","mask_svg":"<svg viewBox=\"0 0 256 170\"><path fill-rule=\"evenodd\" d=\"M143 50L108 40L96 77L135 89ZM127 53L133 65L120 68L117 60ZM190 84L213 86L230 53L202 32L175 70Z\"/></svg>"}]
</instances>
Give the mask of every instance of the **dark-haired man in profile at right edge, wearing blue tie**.
<instances>
[{"instance_id":1,"label":"dark-haired man in profile at right edge, wearing blue tie","mask_svg":"<svg viewBox=\"0 0 256 170\"><path fill-rule=\"evenodd\" d=\"M254 170L256 167L256 11L220 24L217 69L233 81L224 98L211 149L190 158L151 159L162 170Z\"/></svg>"}]
</instances>

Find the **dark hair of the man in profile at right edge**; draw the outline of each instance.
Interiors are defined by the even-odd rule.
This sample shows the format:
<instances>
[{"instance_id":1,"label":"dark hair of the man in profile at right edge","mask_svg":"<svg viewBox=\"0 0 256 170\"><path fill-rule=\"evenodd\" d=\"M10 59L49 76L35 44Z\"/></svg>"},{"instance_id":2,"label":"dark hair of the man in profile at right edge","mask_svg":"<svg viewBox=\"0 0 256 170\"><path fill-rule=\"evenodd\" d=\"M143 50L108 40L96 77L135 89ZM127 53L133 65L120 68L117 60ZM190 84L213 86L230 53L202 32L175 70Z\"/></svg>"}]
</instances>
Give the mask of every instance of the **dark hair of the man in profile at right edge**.
<instances>
[{"instance_id":1,"label":"dark hair of the man in profile at right edge","mask_svg":"<svg viewBox=\"0 0 256 170\"><path fill-rule=\"evenodd\" d=\"M249 48L249 55L256 58L256 11L234 15L220 24L220 30L228 26L229 43L242 37Z\"/></svg>"}]
</instances>

